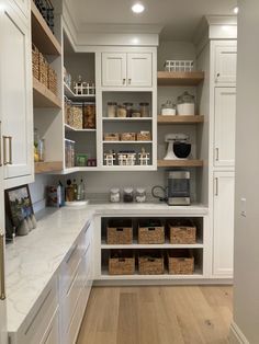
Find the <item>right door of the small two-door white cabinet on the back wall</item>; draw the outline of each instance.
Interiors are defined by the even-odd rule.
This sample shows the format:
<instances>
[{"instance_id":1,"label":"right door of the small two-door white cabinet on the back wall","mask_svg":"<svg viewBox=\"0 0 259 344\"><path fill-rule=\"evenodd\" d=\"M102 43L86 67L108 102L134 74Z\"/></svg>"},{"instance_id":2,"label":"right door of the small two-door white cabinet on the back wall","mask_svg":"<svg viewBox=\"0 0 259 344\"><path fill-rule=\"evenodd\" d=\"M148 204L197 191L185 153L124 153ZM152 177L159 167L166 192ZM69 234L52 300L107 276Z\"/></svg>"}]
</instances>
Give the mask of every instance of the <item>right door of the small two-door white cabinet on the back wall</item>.
<instances>
[{"instance_id":1,"label":"right door of the small two-door white cabinet on the back wall","mask_svg":"<svg viewBox=\"0 0 259 344\"><path fill-rule=\"evenodd\" d=\"M149 88L153 84L151 54L127 54L127 85Z\"/></svg>"}]
</instances>

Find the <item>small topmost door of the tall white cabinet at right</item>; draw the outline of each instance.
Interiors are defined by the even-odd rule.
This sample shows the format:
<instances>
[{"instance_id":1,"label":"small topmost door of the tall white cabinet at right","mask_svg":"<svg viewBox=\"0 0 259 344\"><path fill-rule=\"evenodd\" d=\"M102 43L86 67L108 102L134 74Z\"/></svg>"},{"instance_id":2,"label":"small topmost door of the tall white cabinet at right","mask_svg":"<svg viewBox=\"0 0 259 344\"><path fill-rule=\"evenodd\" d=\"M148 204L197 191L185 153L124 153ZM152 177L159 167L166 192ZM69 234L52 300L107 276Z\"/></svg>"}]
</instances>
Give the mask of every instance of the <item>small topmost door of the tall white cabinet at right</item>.
<instances>
[{"instance_id":1,"label":"small topmost door of the tall white cabinet at right","mask_svg":"<svg viewBox=\"0 0 259 344\"><path fill-rule=\"evenodd\" d=\"M237 47L218 44L215 46L215 84L235 85L237 68Z\"/></svg>"}]
</instances>

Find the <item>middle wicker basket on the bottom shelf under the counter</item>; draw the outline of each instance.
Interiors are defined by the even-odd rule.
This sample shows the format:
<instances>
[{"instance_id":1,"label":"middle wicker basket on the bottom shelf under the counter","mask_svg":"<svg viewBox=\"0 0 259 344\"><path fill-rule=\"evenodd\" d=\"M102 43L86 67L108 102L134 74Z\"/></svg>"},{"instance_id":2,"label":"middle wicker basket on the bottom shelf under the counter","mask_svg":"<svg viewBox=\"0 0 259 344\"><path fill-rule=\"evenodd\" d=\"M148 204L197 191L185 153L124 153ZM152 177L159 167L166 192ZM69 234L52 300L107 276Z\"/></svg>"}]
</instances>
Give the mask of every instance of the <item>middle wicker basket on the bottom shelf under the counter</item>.
<instances>
[{"instance_id":1,"label":"middle wicker basket on the bottom shelf under the counter","mask_svg":"<svg viewBox=\"0 0 259 344\"><path fill-rule=\"evenodd\" d=\"M138 271L140 275L162 275L164 256L161 252L149 252L139 254Z\"/></svg>"}]
</instances>

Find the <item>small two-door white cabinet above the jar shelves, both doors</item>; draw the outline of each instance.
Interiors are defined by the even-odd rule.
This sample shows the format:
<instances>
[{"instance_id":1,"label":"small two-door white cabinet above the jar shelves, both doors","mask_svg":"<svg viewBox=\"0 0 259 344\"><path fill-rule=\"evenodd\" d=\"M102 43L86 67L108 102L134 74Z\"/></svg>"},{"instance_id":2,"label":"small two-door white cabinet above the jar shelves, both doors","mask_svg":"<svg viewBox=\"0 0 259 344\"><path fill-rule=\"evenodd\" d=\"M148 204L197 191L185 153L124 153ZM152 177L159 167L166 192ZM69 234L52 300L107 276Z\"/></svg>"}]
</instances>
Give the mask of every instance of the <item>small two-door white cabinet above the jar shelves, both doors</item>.
<instances>
[{"instance_id":1,"label":"small two-door white cabinet above the jar shelves, both doors","mask_svg":"<svg viewBox=\"0 0 259 344\"><path fill-rule=\"evenodd\" d=\"M103 53L102 85L114 88L150 88L151 53Z\"/></svg>"}]
</instances>

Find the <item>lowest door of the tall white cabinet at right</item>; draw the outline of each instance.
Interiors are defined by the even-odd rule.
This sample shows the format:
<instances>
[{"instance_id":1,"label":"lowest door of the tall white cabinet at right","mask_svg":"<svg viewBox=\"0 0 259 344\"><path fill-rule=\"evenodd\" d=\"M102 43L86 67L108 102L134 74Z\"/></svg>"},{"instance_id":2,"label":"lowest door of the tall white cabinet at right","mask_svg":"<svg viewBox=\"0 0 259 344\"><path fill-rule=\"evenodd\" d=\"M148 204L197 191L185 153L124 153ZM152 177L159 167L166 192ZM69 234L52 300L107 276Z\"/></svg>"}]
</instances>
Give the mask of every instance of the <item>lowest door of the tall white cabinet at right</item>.
<instances>
[{"instance_id":1,"label":"lowest door of the tall white cabinet at right","mask_svg":"<svg viewBox=\"0 0 259 344\"><path fill-rule=\"evenodd\" d=\"M233 276L235 173L214 174L213 275Z\"/></svg>"}]
</instances>

